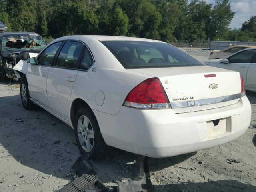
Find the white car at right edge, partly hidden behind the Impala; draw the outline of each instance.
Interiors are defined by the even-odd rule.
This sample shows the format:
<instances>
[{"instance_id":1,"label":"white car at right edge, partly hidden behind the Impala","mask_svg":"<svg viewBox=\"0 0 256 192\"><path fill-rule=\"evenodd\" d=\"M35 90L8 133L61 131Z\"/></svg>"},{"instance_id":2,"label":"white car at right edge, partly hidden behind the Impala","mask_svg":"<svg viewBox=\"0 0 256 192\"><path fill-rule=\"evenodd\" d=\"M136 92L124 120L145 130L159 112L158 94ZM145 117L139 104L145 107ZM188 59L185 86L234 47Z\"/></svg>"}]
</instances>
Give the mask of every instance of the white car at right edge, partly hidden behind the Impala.
<instances>
[{"instance_id":1,"label":"white car at right edge, partly hidden behind the Impala","mask_svg":"<svg viewBox=\"0 0 256 192\"><path fill-rule=\"evenodd\" d=\"M256 92L256 48L244 49L225 59L208 60L204 64L240 72L245 89Z\"/></svg>"}]
</instances>

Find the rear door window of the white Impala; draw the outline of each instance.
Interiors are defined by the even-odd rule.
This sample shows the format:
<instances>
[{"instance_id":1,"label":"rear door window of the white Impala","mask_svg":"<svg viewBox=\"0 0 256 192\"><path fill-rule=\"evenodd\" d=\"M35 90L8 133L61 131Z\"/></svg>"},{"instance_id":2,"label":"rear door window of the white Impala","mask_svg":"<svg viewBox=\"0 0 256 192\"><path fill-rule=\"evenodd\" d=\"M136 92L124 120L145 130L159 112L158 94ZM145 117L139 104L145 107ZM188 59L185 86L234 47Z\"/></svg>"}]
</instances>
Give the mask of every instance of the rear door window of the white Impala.
<instances>
[{"instance_id":1,"label":"rear door window of the white Impala","mask_svg":"<svg viewBox=\"0 0 256 192\"><path fill-rule=\"evenodd\" d=\"M80 42L65 42L58 56L56 66L63 68L78 69L78 60L80 58L83 48L84 44Z\"/></svg>"}]
</instances>

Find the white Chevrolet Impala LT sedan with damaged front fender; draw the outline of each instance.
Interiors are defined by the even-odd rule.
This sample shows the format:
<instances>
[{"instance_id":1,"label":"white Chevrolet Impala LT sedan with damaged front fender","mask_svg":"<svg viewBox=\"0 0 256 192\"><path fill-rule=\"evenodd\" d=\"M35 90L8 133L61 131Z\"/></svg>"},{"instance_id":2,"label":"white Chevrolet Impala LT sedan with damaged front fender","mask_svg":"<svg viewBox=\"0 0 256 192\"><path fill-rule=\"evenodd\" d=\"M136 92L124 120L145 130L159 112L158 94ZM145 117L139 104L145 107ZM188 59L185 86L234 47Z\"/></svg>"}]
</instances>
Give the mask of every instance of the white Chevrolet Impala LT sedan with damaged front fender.
<instances>
[{"instance_id":1,"label":"white Chevrolet Impala LT sedan with damaged front fender","mask_svg":"<svg viewBox=\"0 0 256 192\"><path fill-rule=\"evenodd\" d=\"M109 146L170 157L234 140L250 125L239 72L206 66L165 42L66 36L15 67L24 108L75 130L82 154Z\"/></svg>"}]
</instances>

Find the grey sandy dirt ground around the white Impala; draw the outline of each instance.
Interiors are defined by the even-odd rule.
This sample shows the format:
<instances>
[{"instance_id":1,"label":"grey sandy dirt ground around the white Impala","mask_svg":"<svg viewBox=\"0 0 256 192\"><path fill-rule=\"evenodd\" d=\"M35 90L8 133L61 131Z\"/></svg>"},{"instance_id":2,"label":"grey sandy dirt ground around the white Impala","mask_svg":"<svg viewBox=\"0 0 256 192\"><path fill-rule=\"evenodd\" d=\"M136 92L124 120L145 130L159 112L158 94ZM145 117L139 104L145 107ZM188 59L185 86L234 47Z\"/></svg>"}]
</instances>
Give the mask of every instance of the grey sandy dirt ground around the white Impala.
<instances>
[{"instance_id":1,"label":"grey sandy dirt ground around the white Impala","mask_svg":"<svg viewBox=\"0 0 256 192\"><path fill-rule=\"evenodd\" d=\"M172 158L150 158L156 192L256 191L256 93L246 94L252 104L252 122L233 142ZM51 192L75 176L71 166L80 155L74 132L38 108L26 111L19 86L0 83L0 192ZM100 180L111 186L136 177L138 156L113 149L94 165ZM228 159L236 159L238 163Z\"/></svg>"}]
</instances>

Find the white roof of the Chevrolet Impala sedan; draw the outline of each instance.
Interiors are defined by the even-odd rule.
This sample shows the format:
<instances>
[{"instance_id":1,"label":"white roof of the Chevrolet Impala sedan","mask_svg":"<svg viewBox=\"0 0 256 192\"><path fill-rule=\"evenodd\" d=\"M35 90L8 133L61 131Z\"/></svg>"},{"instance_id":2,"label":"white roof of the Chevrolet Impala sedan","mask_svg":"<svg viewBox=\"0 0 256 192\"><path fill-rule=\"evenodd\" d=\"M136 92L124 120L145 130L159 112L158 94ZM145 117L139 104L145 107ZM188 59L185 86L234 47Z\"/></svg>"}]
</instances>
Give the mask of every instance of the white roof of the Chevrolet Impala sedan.
<instances>
[{"instance_id":1,"label":"white roof of the Chevrolet Impala sedan","mask_svg":"<svg viewBox=\"0 0 256 192\"><path fill-rule=\"evenodd\" d=\"M64 36L58 38L57 40L66 40L66 39L74 39L76 38L92 38L98 41L146 41L146 42L161 42L158 40L145 39L145 38L137 38L137 37L124 37L124 36L105 36L105 35L73 35L73 36Z\"/></svg>"}]
</instances>

